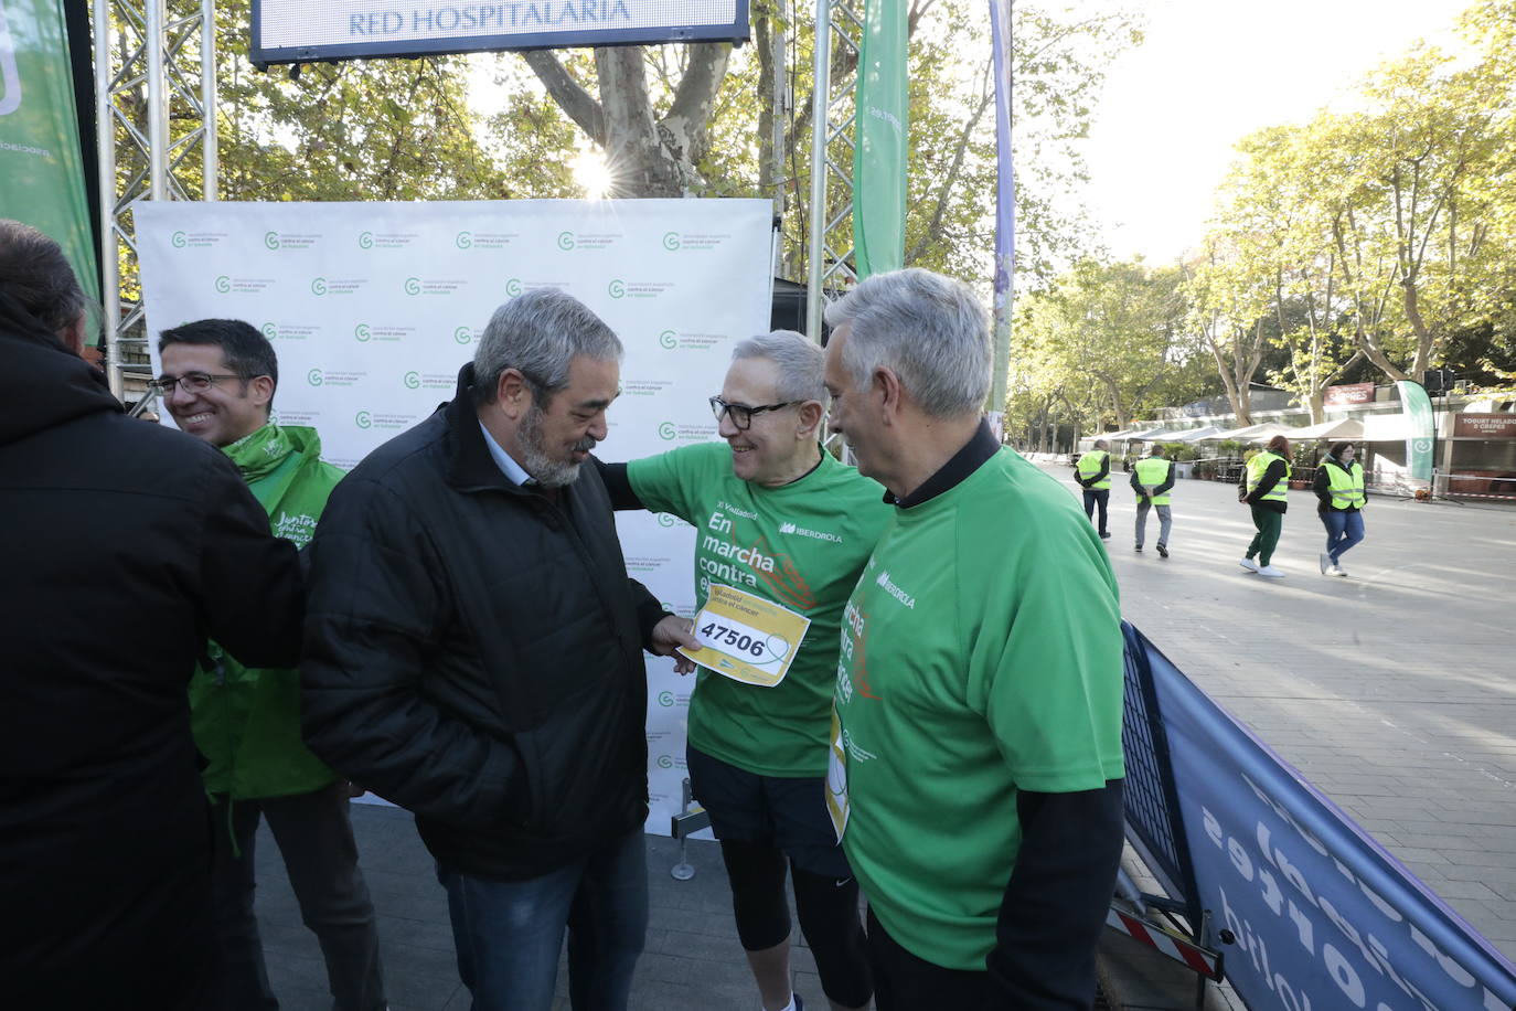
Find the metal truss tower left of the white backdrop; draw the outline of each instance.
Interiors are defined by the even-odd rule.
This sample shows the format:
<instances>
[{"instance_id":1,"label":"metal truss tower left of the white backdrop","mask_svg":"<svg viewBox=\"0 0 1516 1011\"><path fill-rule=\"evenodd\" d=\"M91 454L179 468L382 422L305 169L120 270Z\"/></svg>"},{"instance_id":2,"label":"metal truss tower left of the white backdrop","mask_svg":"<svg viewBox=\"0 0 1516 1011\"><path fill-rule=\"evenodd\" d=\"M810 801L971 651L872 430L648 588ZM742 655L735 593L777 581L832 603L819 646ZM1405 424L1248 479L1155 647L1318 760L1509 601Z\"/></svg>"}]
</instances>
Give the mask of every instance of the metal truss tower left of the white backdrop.
<instances>
[{"instance_id":1,"label":"metal truss tower left of the white backdrop","mask_svg":"<svg viewBox=\"0 0 1516 1011\"><path fill-rule=\"evenodd\" d=\"M215 0L94 0L100 267L111 391L149 376L136 277L141 200L217 197ZM126 285L123 286L123 276Z\"/></svg>"}]
</instances>

